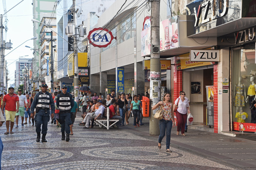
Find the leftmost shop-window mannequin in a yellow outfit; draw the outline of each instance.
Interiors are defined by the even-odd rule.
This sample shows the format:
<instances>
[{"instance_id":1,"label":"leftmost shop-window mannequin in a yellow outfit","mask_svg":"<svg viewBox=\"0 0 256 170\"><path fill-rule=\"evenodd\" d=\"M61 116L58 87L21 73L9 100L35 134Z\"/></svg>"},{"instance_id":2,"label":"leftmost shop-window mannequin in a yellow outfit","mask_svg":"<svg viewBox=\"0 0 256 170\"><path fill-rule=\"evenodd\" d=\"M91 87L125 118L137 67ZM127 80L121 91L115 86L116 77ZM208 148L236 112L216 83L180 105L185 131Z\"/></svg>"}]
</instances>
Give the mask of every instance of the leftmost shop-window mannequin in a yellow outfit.
<instances>
[{"instance_id":1,"label":"leftmost shop-window mannequin in a yellow outfit","mask_svg":"<svg viewBox=\"0 0 256 170\"><path fill-rule=\"evenodd\" d=\"M235 98L234 106L244 107L245 106L245 85L241 84L241 77L238 77L238 84L235 85Z\"/></svg>"}]
</instances>

